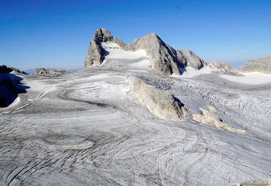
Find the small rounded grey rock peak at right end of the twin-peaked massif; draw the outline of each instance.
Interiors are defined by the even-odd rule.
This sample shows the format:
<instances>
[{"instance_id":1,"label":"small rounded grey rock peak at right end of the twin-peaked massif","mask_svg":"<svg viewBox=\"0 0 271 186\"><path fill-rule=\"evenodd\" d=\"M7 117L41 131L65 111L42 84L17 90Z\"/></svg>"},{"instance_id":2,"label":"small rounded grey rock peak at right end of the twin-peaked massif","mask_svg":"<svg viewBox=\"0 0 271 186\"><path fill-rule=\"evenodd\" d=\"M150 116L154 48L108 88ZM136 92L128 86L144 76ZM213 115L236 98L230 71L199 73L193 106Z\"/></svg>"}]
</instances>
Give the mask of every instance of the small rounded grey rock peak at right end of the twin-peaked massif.
<instances>
[{"instance_id":1,"label":"small rounded grey rock peak at right end of the twin-peaked massif","mask_svg":"<svg viewBox=\"0 0 271 186\"><path fill-rule=\"evenodd\" d=\"M187 62L187 66L192 67L196 70L200 70L203 68L205 61L197 56L195 53L188 49L182 49L181 54L185 61Z\"/></svg>"}]
</instances>

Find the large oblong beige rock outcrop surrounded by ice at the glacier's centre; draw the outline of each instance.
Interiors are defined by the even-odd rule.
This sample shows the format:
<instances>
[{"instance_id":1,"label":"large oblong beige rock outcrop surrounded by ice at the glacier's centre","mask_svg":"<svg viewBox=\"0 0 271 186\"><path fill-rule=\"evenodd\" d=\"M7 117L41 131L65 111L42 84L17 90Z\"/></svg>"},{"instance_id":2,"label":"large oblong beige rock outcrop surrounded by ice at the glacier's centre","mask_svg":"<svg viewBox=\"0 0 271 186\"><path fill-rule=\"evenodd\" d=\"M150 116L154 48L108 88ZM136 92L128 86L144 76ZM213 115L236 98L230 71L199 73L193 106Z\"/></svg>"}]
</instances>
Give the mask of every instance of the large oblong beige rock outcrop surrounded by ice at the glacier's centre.
<instances>
[{"instance_id":1,"label":"large oblong beige rock outcrop surrounded by ice at the glacier's centre","mask_svg":"<svg viewBox=\"0 0 271 186\"><path fill-rule=\"evenodd\" d=\"M187 114L185 106L182 106L170 92L151 86L138 78L129 77L128 81L131 86L129 94L157 117L180 121Z\"/></svg>"}]
</instances>

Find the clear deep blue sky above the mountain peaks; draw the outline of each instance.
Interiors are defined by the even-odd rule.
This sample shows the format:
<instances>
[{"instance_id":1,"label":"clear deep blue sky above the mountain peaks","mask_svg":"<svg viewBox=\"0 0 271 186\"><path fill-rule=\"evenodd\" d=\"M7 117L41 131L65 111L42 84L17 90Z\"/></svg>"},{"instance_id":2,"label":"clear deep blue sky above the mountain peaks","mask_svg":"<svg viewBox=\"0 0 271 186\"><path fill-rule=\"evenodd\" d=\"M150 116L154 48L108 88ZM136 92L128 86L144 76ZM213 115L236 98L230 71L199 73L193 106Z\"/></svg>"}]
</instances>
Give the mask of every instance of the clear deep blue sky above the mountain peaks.
<instances>
[{"instance_id":1,"label":"clear deep blue sky above the mountain peaks","mask_svg":"<svg viewBox=\"0 0 271 186\"><path fill-rule=\"evenodd\" d=\"M98 27L238 66L271 53L271 0L0 0L0 65L83 68Z\"/></svg>"}]
</instances>

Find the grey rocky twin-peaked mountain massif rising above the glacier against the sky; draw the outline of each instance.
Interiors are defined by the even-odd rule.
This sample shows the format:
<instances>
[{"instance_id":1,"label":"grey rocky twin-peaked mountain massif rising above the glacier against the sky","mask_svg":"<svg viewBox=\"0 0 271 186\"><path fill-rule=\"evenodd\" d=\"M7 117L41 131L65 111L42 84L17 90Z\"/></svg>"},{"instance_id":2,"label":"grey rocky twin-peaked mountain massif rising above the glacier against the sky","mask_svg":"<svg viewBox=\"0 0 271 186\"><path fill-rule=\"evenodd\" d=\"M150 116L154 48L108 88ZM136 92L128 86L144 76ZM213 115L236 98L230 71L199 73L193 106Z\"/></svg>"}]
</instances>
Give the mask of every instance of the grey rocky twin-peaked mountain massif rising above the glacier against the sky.
<instances>
[{"instance_id":1,"label":"grey rocky twin-peaked mountain massif rising above the glacier against the sky","mask_svg":"<svg viewBox=\"0 0 271 186\"><path fill-rule=\"evenodd\" d=\"M113 42L126 51L145 50L151 61L151 70L162 75L180 74L180 68L190 66L196 70L203 68L205 61L190 50L175 50L164 43L155 33L137 38L132 45L125 44L121 39L113 38L110 31L98 28L90 41L84 67L102 64L106 51L101 47L102 42Z\"/></svg>"}]
</instances>

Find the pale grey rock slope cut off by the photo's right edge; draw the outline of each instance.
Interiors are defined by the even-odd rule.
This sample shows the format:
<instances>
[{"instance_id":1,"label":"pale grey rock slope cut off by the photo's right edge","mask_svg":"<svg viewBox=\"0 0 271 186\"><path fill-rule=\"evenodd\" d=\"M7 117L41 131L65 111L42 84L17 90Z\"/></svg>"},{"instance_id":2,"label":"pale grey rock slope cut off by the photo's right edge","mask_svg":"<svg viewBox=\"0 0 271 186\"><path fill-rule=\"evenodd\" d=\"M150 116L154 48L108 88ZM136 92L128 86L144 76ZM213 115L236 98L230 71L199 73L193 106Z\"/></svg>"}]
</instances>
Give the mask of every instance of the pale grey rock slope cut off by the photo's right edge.
<instances>
[{"instance_id":1,"label":"pale grey rock slope cut off by the photo's right edge","mask_svg":"<svg viewBox=\"0 0 271 186\"><path fill-rule=\"evenodd\" d=\"M241 68L241 72L262 72L271 74L271 54L265 58L249 59Z\"/></svg>"}]
</instances>

